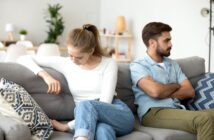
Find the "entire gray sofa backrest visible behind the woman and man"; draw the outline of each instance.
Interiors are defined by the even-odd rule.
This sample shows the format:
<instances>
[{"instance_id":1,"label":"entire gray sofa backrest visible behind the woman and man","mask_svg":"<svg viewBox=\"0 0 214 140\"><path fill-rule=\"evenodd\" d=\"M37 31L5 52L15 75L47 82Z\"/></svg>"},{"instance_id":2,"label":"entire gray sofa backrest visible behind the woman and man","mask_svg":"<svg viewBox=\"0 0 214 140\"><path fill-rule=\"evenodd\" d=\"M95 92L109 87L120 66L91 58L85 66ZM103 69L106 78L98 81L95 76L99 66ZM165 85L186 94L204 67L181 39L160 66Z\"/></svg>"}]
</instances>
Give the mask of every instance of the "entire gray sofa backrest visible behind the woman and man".
<instances>
[{"instance_id":1,"label":"entire gray sofa backrest visible behind the woman and man","mask_svg":"<svg viewBox=\"0 0 214 140\"><path fill-rule=\"evenodd\" d=\"M194 87L197 80L205 73L205 60L194 56L176 59L176 61ZM0 63L0 78L4 77L23 86L51 119L73 119L75 104L67 81L61 73L50 68L45 69L61 82L62 92L59 96L47 94L47 85L44 81L17 63ZM118 64L116 92L118 98L124 101L133 113L136 113L137 106L134 104L135 97L132 92L132 81L128 63Z\"/></svg>"}]
</instances>

